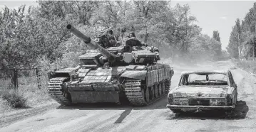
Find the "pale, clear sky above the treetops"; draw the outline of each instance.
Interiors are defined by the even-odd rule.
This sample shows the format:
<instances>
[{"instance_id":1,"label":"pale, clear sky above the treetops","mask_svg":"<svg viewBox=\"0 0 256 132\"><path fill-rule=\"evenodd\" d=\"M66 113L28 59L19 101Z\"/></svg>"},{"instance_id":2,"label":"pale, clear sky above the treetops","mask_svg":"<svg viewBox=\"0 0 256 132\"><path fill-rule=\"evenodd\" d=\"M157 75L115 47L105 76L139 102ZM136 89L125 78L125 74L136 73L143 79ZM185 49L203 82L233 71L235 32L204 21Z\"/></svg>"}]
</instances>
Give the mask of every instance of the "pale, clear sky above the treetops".
<instances>
[{"instance_id":1,"label":"pale, clear sky above the treetops","mask_svg":"<svg viewBox=\"0 0 256 132\"><path fill-rule=\"evenodd\" d=\"M190 14L198 19L197 25L202 28L202 33L213 36L213 31L219 31L222 49L228 45L232 26L235 20L245 18L245 14L252 8L256 1L183 1L173 0L171 6L188 4ZM35 1L0 1L0 9L4 6L17 9L19 6L37 6Z\"/></svg>"}]
</instances>

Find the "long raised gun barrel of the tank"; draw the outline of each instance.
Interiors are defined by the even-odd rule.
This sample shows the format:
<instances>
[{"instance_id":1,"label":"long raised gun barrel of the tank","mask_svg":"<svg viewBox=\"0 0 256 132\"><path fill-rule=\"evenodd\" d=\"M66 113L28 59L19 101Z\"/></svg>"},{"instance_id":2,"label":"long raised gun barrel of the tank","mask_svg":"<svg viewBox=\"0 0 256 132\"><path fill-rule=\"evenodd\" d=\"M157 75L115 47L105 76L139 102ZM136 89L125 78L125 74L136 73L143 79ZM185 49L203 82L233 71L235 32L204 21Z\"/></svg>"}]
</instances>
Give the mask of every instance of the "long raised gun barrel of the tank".
<instances>
[{"instance_id":1,"label":"long raised gun barrel of the tank","mask_svg":"<svg viewBox=\"0 0 256 132\"><path fill-rule=\"evenodd\" d=\"M98 52L101 53L102 55L106 55L106 57L108 57L108 60L114 61L116 59L115 55L111 54L110 52L108 52L108 50L101 47L100 45L98 45L93 40L91 40L90 37L84 35L80 31L78 31L76 28L71 26L71 24L68 24L66 26L66 28L68 29L68 31L71 31L71 33L76 35L78 38L81 38L83 40L83 42L86 43L86 45L88 45L90 48L93 48L94 50L98 50Z\"/></svg>"}]
</instances>

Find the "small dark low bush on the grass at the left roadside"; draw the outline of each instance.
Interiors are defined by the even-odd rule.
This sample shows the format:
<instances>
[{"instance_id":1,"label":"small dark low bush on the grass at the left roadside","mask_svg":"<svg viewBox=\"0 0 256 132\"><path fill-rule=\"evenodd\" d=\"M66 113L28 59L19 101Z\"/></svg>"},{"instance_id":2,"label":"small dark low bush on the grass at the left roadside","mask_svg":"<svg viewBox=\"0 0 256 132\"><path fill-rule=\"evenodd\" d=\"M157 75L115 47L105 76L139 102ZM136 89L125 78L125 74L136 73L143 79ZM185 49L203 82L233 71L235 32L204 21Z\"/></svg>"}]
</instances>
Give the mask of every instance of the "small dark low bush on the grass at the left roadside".
<instances>
[{"instance_id":1,"label":"small dark low bush on the grass at the left roadside","mask_svg":"<svg viewBox=\"0 0 256 132\"><path fill-rule=\"evenodd\" d=\"M11 89L5 91L2 94L2 99L6 100L8 104L13 108L25 108L27 99L24 94L21 94L17 90Z\"/></svg>"}]
</instances>

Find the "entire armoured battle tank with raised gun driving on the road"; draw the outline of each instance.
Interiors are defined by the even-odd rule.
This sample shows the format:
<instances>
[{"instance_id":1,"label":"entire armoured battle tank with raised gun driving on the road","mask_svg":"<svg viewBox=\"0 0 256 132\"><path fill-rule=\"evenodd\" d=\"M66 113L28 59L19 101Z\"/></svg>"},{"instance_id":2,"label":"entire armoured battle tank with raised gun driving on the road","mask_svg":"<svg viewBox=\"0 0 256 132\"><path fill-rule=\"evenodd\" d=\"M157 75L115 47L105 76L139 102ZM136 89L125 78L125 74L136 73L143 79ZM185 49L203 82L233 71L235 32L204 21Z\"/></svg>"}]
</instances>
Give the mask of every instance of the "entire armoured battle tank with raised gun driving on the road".
<instances>
[{"instance_id":1,"label":"entire armoured battle tank with raised gun driving on the road","mask_svg":"<svg viewBox=\"0 0 256 132\"><path fill-rule=\"evenodd\" d=\"M60 104L112 102L147 106L170 89L173 68L158 63L159 50L130 38L125 45L103 48L71 25L66 26L92 50L81 65L48 74L48 93Z\"/></svg>"}]
</instances>

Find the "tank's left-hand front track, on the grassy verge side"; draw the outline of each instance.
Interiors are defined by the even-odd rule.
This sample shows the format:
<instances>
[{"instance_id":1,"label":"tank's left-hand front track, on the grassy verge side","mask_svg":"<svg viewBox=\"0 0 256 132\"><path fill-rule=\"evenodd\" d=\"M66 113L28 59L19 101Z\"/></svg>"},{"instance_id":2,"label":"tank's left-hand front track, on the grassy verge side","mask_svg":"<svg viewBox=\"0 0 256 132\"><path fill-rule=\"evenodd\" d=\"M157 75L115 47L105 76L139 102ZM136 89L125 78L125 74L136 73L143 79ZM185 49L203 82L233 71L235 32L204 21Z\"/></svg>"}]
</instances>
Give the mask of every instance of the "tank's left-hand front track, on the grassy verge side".
<instances>
[{"instance_id":1,"label":"tank's left-hand front track, on the grassy verge side","mask_svg":"<svg viewBox=\"0 0 256 132\"><path fill-rule=\"evenodd\" d=\"M62 84L61 80L53 80L48 82L48 94L57 101L59 104L70 105L71 101L66 99L62 92Z\"/></svg>"}]
</instances>

